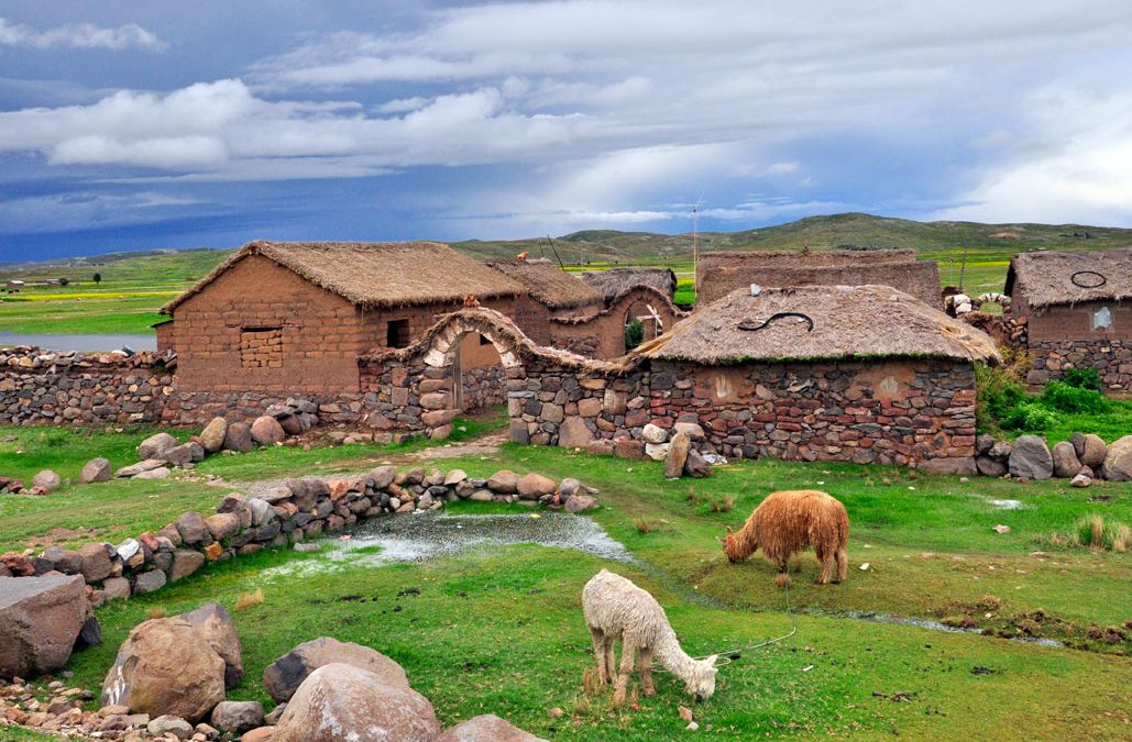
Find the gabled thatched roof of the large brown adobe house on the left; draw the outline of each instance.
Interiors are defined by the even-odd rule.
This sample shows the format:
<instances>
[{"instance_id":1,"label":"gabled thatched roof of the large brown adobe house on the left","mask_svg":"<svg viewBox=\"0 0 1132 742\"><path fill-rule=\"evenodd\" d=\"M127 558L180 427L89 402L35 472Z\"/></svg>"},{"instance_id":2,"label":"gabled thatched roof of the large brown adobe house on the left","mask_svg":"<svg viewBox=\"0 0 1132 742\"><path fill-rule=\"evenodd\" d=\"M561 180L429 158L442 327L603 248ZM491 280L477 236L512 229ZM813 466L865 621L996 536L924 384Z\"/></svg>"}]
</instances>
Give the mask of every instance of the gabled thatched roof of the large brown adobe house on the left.
<instances>
[{"instance_id":1,"label":"gabled thatched roof of the large brown adobe house on the left","mask_svg":"<svg viewBox=\"0 0 1132 742\"><path fill-rule=\"evenodd\" d=\"M161 308L171 313L248 256L263 256L361 307L404 307L495 299L522 287L439 242L266 242L243 245L187 292Z\"/></svg>"}]
</instances>

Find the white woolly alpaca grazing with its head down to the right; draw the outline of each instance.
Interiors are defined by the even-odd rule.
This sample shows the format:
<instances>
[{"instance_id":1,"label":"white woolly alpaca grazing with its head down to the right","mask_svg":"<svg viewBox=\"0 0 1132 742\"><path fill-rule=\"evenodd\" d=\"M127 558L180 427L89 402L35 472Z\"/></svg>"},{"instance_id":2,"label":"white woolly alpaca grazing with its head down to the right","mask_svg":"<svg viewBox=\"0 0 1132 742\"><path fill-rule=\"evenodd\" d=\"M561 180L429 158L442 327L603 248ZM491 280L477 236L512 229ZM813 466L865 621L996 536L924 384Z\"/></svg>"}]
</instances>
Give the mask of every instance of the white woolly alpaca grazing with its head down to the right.
<instances>
[{"instance_id":1,"label":"white woolly alpaca grazing with its head down to the right","mask_svg":"<svg viewBox=\"0 0 1132 742\"><path fill-rule=\"evenodd\" d=\"M715 692L715 655L693 659L680 649L664 609L645 590L619 575L601 570L582 588L582 611L593 637L601 683L614 682L614 641L621 640L621 666L617 675L614 706L625 702L625 688L633 672L633 655L640 653L637 671L645 696L655 694L652 656L685 683L696 700Z\"/></svg>"}]
</instances>

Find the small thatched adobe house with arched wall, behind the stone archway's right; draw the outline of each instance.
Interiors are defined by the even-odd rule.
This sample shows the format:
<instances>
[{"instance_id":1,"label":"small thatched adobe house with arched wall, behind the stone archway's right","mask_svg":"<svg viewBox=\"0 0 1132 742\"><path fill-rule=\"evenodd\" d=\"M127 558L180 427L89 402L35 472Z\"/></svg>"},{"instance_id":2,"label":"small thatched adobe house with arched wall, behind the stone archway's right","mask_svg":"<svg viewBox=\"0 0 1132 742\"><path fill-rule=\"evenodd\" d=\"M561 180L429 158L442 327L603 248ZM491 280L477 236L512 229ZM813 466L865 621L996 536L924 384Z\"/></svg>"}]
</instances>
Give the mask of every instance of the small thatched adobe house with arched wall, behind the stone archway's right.
<instances>
[{"instance_id":1,"label":"small thatched adobe house with arched wall, behind the stone archway's right","mask_svg":"<svg viewBox=\"0 0 1132 742\"><path fill-rule=\"evenodd\" d=\"M594 359L624 355L626 326L642 322L644 339L670 328L679 310L649 279L623 274L602 292L549 260L489 260L525 290L511 314L534 343ZM670 271L669 271L670 273ZM674 275L675 277L675 275Z\"/></svg>"}]
</instances>

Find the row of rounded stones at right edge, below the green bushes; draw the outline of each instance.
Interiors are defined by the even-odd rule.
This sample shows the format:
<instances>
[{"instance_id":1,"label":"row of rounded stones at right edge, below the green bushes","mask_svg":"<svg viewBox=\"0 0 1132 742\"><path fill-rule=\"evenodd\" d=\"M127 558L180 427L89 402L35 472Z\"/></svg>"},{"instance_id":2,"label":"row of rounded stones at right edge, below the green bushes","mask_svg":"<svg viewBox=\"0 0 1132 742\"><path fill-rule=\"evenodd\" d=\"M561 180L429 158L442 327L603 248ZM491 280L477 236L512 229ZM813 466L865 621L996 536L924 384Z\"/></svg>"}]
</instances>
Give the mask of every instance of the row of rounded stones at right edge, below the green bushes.
<instances>
[{"instance_id":1,"label":"row of rounded stones at right edge, below the green bushes","mask_svg":"<svg viewBox=\"0 0 1132 742\"><path fill-rule=\"evenodd\" d=\"M1019 435L1013 443L979 435L975 450L975 465L984 476L1061 477L1072 480L1078 488L1089 486L1098 480L1132 481L1132 435L1106 446L1099 435L1078 432L1052 450L1038 435Z\"/></svg>"}]
</instances>

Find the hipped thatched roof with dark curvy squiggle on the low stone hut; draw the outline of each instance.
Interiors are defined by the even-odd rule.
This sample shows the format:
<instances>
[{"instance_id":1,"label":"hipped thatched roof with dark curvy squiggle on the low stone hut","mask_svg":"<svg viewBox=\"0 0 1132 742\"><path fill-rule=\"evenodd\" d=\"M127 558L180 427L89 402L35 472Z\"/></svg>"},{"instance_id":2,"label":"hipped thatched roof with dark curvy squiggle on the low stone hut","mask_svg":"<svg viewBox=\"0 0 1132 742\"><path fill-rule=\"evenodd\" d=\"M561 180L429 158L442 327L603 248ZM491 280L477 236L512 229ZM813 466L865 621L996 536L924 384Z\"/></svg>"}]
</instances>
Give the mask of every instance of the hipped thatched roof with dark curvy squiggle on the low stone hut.
<instances>
[{"instance_id":1,"label":"hipped thatched roof with dark curvy squiggle on the low stone hut","mask_svg":"<svg viewBox=\"0 0 1132 742\"><path fill-rule=\"evenodd\" d=\"M983 331L889 286L766 288L758 296L739 290L638 353L706 365L854 357L1000 360L994 340Z\"/></svg>"}]
</instances>

